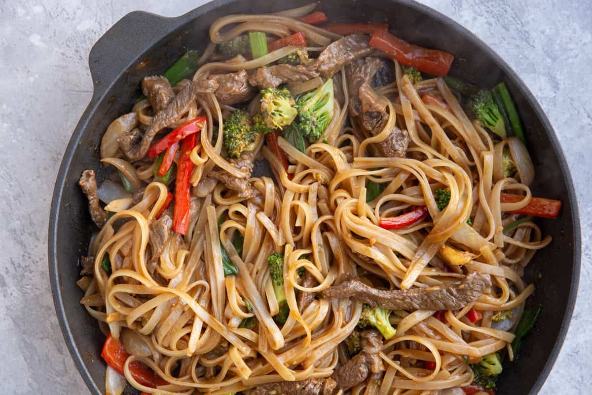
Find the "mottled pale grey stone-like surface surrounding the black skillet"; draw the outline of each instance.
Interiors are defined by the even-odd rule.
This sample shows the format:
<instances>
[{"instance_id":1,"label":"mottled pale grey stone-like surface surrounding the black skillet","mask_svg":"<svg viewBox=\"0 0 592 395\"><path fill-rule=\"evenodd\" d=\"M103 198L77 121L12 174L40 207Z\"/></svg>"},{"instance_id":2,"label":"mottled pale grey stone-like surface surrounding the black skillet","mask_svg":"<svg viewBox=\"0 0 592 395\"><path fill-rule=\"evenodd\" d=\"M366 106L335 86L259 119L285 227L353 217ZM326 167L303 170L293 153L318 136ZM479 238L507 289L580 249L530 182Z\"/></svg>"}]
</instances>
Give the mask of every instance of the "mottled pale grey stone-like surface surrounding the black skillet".
<instances>
[{"instance_id":1,"label":"mottled pale grey stone-like surface surrounding the black skillet","mask_svg":"<svg viewBox=\"0 0 592 395\"><path fill-rule=\"evenodd\" d=\"M182 0L0 0L0 391L86 394L62 338L47 274L49 205L63 150L91 98L88 53L135 9L176 16ZM588 0L424 0L493 47L548 114L577 186L580 294L541 394L588 393L592 343L592 7ZM588 313L586 313L588 311Z\"/></svg>"}]
</instances>

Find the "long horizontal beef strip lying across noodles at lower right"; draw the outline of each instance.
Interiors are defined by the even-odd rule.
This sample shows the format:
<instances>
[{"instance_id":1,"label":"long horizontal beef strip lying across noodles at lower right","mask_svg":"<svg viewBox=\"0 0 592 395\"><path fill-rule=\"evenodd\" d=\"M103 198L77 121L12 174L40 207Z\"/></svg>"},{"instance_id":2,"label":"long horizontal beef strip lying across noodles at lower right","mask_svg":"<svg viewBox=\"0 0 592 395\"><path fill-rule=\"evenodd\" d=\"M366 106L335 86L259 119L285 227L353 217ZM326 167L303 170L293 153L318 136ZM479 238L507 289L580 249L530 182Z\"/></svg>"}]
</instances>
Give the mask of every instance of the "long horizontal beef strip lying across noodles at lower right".
<instances>
[{"instance_id":1,"label":"long horizontal beef strip lying across noodles at lower right","mask_svg":"<svg viewBox=\"0 0 592 395\"><path fill-rule=\"evenodd\" d=\"M490 287L490 275L472 272L457 284L408 290L378 290L359 280L348 280L327 288L323 296L354 298L389 310L458 310L477 300Z\"/></svg>"}]
</instances>

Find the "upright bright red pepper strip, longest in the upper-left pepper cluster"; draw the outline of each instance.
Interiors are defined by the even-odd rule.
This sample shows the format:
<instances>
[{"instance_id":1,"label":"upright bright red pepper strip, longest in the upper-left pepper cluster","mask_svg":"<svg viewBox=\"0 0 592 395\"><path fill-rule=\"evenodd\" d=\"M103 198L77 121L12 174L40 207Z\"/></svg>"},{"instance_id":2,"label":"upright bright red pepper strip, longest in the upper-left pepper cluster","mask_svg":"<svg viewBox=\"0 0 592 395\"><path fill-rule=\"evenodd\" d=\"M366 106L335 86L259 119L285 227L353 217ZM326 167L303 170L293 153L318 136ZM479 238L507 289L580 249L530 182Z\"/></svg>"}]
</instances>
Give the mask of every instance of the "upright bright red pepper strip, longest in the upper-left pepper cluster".
<instances>
[{"instance_id":1,"label":"upright bright red pepper strip, longest in the upper-left pepper cluster","mask_svg":"<svg viewBox=\"0 0 592 395\"><path fill-rule=\"evenodd\" d=\"M189 134L181 142L181 158L177 167L177 179L175 181L175 211L173 213L173 231L179 235L185 235L189 228L189 211L191 208L191 172L195 164L189 158L191 150L194 149L197 142L197 134Z\"/></svg>"}]
</instances>

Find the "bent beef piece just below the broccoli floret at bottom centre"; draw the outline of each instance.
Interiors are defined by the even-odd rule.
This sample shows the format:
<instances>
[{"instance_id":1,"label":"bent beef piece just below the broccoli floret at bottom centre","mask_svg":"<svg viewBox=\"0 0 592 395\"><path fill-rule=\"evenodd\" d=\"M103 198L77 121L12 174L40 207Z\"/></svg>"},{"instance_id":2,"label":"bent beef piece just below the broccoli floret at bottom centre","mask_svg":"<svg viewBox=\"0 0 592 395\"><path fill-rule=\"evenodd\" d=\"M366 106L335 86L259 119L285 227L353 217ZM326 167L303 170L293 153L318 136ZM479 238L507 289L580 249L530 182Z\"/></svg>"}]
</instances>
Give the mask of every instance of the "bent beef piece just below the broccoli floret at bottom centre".
<instances>
[{"instance_id":1,"label":"bent beef piece just below the broccoli floret at bottom centre","mask_svg":"<svg viewBox=\"0 0 592 395\"><path fill-rule=\"evenodd\" d=\"M361 336L362 351L331 375L337 383L337 390L349 390L366 380L370 373L384 371L384 364L378 355L382 349L382 335L376 330L365 330Z\"/></svg>"}]
</instances>

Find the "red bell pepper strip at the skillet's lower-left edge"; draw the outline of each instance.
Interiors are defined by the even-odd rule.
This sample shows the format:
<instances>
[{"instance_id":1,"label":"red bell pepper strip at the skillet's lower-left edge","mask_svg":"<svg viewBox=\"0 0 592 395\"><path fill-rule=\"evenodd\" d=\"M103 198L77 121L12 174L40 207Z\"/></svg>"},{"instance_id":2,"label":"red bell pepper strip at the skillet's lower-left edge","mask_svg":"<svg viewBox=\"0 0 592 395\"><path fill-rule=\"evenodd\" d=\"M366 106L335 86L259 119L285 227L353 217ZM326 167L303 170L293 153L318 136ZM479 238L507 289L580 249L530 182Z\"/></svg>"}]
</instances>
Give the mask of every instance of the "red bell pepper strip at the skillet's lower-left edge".
<instances>
[{"instance_id":1,"label":"red bell pepper strip at the skillet's lower-left edge","mask_svg":"<svg viewBox=\"0 0 592 395\"><path fill-rule=\"evenodd\" d=\"M130 354L127 354L123 344L111 336L111 333L107 336L103 351L101 352L101 357L103 357L105 362L107 362L107 364L116 372L122 376L124 375L123 367L126 364L127 358L130 357ZM168 384L168 381L157 376L152 369L140 361L130 362L130 372L132 377L138 383L146 387L156 388L157 386Z\"/></svg>"}]
</instances>

